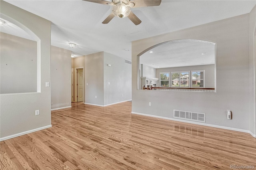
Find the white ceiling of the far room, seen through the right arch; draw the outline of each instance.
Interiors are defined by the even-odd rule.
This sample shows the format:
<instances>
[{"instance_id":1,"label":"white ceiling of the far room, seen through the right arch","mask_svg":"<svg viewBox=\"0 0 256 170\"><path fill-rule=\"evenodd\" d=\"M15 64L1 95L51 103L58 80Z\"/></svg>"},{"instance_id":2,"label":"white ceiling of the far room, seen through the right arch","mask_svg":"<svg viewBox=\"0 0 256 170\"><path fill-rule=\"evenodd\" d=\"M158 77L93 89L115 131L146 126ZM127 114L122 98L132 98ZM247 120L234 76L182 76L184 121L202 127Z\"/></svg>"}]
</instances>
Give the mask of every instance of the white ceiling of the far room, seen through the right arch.
<instances>
[{"instance_id":1,"label":"white ceiling of the far room, seen through the right arch","mask_svg":"<svg viewBox=\"0 0 256 170\"><path fill-rule=\"evenodd\" d=\"M215 64L215 44L199 40L171 41L142 54L140 63L154 68Z\"/></svg>"}]
</instances>

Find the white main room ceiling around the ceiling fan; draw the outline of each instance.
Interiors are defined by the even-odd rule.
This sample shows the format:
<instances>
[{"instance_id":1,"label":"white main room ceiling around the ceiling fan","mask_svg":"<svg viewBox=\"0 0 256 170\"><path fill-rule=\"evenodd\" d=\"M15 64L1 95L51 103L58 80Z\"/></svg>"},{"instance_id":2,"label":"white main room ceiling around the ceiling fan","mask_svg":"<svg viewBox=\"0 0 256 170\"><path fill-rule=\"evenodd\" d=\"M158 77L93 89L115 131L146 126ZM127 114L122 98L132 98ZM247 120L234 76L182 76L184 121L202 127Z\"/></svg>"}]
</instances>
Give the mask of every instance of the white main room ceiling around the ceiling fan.
<instances>
[{"instance_id":1,"label":"white main room ceiling around the ceiling fan","mask_svg":"<svg viewBox=\"0 0 256 170\"><path fill-rule=\"evenodd\" d=\"M249 13L255 0L162 0L160 6L132 8L142 23L128 18L102 21L111 6L82 0L5 0L52 22L51 44L87 55L106 51L131 59L131 42ZM1 26L2 27L2 26ZM68 43L76 43L69 47ZM125 51L129 49L129 51Z\"/></svg>"}]
</instances>

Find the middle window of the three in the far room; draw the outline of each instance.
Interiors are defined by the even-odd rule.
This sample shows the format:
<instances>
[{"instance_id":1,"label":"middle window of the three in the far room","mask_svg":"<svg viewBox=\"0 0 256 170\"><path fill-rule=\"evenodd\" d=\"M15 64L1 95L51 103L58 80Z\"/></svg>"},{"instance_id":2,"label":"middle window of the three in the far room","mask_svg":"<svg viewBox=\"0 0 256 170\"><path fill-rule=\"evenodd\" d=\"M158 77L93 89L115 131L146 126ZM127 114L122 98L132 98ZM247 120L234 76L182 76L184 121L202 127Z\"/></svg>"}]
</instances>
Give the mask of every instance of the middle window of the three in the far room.
<instances>
[{"instance_id":1,"label":"middle window of the three in the far room","mask_svg":"<svg viewBox=\"0 0 256 170\"><path fill-rule=\"evenodd\" d=\"M189 87L190 71L172 72L172 87Z\"/></svg>"}]
</instances>

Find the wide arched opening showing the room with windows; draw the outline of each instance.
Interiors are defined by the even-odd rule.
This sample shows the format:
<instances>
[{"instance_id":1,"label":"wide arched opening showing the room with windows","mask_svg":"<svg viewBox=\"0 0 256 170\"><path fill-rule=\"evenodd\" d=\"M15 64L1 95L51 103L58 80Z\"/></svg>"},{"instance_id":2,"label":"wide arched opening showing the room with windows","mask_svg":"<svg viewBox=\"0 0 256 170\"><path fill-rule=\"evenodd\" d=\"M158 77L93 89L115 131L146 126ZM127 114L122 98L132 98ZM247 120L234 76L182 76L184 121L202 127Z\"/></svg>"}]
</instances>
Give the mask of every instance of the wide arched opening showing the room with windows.
<instances>
[{"instance_id":1,"label":"wide arched opening showing the room with windows","mask_svg":"<svg viewBox=\"0 0 256 170\"><path fill-rule=\"evenodd\" d=\"M182 39L158 43L137 56L138 88L214 92L216 44Z\"/></svg>"}]
</instances>

